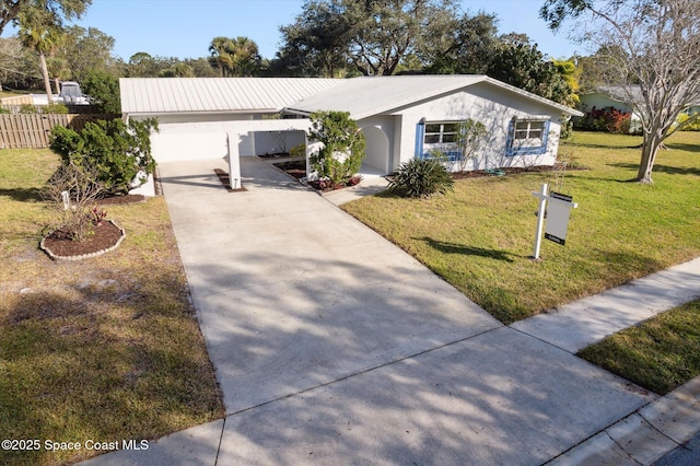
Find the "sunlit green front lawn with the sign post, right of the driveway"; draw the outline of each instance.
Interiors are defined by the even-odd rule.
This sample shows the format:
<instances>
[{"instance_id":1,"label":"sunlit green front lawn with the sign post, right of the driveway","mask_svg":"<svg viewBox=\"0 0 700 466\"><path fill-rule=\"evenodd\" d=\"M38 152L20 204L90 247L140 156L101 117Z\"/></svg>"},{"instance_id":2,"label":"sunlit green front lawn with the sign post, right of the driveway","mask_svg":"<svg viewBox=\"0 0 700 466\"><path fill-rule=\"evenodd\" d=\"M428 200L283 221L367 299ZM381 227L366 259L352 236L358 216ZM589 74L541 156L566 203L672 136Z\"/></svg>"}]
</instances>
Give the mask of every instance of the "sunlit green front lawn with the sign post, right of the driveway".
<instances>
[{"instance_id":1,"label":"sunlit green front lawn with the sign post, right of the driveway","mask_svg":"<svg viewBox=\"0 0 700 466\"><path fill-rule=\"evenodd\" d=\"M541 183L550 172L466 178L452 194L402 199L383 194L343 209L417 257L503 323L600 292L700 256L700 133L662 151L654 184L637 174L641 138L575 133L560 148L588 170L569 171L573 196L567 245L544 241L530 260Z\"/></svg>"}]
</instances>

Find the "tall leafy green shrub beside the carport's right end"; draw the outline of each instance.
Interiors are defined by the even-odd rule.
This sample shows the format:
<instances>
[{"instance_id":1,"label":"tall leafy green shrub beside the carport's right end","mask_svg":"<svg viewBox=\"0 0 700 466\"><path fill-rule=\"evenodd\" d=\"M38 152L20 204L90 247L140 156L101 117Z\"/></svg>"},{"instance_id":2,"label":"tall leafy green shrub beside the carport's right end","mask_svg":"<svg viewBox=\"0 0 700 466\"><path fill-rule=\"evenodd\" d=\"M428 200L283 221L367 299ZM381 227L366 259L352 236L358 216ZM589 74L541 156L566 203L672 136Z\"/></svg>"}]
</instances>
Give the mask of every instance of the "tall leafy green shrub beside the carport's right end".
<instances>
[{"instance_id":1,"label":"tall leafy green shrub beside the carport's right end","mask_svg":"<svg viewBox=\"0 0 700 466\"><path fill-rule=\"evenodd\" d=\"M364 159L364 135L347 112L316 112L311 115L308 137L323 147L310 158L319 178L343 184L358 173Z\"/></svg>"}]
</instances>

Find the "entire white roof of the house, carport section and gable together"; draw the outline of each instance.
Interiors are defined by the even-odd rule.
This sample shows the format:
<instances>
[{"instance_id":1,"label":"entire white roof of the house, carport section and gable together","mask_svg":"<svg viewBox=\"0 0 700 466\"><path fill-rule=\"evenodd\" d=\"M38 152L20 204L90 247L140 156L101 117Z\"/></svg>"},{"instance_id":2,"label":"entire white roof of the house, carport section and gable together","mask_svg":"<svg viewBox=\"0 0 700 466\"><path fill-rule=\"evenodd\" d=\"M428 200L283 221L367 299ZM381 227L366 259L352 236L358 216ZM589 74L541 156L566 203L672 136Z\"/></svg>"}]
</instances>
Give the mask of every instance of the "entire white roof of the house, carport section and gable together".
<instances>
[{"instance_id":1,"label":"entire white roof of the house, carport section and gable together","mask_svg":"<svg viewBox=\"0 0 700 466\"><path fill-rule=\"evenodd\" d=\"M172 113L310 114L349 112L352 118L401 107L486 82L538 101L569 115L578 110L481 74L320 78L121 78L121 112L129 115ZM582 114L581 114L582 115Z\"/></svg>"}]
</instances>

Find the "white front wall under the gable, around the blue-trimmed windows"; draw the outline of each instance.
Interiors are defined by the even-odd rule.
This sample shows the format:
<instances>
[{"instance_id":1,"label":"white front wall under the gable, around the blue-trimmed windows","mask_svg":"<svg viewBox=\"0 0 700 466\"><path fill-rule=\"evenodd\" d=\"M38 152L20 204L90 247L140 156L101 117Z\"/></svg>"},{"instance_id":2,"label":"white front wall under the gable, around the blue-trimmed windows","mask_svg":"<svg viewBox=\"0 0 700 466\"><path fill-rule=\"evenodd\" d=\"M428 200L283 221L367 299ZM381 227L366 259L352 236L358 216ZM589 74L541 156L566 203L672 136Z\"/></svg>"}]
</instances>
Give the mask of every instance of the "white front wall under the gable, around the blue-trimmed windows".
<instances>
[{"instance_id":1,"label":"white front wall under the gable, around the blue-trimmed windows","mask_svg":"<svg viewBox=\"0 0 700 466\"><path fill-rule=\"evenodd\" d=\"M457 123L468 118L486 126L487 140L474 159L466 164L453 161L448 164L451 170L553 165L556 162L561 128L560 110L515 92L480 83L400 110L400 131L395 131L399 138L399 156L395 158L393 170L415 156L430 155L423 145L419 125ZM521 153L526 151L512 150L514 118L549 121L541 153Z\"/></svg>"}]
</instances>

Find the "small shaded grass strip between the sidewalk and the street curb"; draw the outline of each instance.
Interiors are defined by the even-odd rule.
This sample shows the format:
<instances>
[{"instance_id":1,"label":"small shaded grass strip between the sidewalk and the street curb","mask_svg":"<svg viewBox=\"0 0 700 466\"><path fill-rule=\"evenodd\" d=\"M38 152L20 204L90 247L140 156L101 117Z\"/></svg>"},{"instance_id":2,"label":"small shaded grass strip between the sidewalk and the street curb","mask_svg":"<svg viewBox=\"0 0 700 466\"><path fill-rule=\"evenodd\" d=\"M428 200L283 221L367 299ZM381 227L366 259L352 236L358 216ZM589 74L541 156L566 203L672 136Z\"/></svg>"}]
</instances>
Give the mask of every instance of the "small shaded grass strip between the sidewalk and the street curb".
<instances>
[{"instance_id":1,"label":"small shaded grass strip between the sidewalk and the street curb","mask_svg":"<svg viewBox=\"0 0 700 466\"><path fill-rule=\"evenodd\" d=\"M621 330L579 356L665 395L700 374L700 300Z\"/></svg>"}]
</instances>

